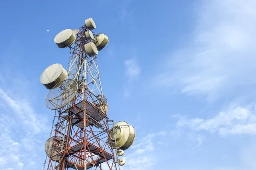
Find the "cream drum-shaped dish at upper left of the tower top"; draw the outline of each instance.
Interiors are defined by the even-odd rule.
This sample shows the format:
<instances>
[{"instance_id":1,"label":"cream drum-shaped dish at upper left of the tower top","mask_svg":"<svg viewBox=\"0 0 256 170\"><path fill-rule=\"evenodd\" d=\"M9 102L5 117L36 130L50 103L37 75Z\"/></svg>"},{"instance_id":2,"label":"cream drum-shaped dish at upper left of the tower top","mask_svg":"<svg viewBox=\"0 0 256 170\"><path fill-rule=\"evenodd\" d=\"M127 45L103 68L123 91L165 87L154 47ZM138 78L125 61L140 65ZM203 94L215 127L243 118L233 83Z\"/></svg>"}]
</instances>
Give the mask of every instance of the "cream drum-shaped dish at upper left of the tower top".
<instances>
[{"instance_id":1,"label":"cream drum-shaped dish at upper left of the tower top","mask_svg":"<svg viewBox=\"0 0 256 170\"><path fill-rule=\"evenodd\" d=\"M72 31L72 29L65 29L58 33L55 38L54 42L58 45L58 48L66 48L73 44L76 40L76 35Z\"/></svg>"}]
</instances>

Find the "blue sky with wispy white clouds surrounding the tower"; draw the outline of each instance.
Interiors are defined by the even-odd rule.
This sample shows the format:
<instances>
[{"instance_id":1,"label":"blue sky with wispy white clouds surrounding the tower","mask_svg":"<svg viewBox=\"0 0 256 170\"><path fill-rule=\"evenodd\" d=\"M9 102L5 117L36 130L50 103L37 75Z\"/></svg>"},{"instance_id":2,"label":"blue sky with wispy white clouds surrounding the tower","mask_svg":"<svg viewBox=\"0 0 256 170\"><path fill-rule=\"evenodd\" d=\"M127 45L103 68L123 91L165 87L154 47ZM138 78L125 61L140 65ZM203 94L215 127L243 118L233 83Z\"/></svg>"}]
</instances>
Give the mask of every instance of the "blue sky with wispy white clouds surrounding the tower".
<instances>
[{"instance_id":1,"label":"blue sky with wispy white clouds surrounding the tower","mask_svg":"<svg viewBox=\"0 0 256 170\"><path fill-rule=\"evenodd\" d=\"M122 170L255 170L256 1L0 0L0 170L41 169L53 39L92 17L108 116L136 129ZM49 32L47 31L49 29Z\"/></svg>"}]
</instances>

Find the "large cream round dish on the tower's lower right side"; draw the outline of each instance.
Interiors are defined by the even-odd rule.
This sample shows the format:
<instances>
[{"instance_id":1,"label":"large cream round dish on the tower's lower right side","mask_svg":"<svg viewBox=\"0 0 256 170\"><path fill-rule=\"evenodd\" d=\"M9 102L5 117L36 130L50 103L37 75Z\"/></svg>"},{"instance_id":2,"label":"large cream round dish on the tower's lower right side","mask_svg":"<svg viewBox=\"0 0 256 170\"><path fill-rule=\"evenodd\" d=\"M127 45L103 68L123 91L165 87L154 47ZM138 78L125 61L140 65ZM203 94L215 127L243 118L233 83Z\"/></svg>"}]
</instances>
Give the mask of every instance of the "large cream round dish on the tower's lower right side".
<instances>
[{"instance_id":1,"label":"large cream round dish on the tower's lower right side","mask_svg":"<svg viewBox=\"0 0 256 170\"><path fill-rule=\"evenodd\" d=\"M115 128L116 132L116 143L113 128ZM129 125L125 121L117 122L111 128L109 143L112 143L113 148L126 150L128 149L135 139L135 129L132 125Z\"/></svg>"}]
</instances>

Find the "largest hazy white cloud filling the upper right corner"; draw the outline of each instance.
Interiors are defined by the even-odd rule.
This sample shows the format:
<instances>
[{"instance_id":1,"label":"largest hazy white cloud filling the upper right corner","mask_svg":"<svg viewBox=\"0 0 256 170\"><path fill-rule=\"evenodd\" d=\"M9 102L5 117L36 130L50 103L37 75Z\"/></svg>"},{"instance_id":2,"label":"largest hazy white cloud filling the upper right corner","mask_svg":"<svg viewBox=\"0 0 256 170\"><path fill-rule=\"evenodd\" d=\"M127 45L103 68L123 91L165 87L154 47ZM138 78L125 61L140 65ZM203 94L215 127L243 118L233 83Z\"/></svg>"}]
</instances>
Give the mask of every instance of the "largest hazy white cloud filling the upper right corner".
<instances>
[{"instance_id":1,"label":"largest hazy white cloud filling the upper right corner","mask_svg":"<svg viewBox=\"0 0 256 170\"><path fill-rule=\"evenodd\" d=\"M169 57L166 70L156 77L158 85L213 100L256 84L255 8L254 0L205 1L189 47Z\"/></svg>"}]
</instances>

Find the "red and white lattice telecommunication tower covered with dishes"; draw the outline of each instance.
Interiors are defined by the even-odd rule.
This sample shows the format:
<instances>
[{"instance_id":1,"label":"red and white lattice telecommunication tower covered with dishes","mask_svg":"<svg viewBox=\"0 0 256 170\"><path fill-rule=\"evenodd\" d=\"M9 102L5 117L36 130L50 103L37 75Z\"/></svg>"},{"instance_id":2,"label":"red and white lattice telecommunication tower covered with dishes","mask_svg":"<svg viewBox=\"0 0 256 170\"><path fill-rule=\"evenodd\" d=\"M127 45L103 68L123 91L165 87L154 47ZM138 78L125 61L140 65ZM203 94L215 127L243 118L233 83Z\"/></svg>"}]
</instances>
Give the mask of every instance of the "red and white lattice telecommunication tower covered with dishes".
<instances>
[{"instance_id":1,"label":"red and white lattice telecommunication tower covered with dishes","mask_svg":"<svg viewBox=\"0 0 256 170\"><path fill-rule=\"evenodd\" d=\"M96 55L109 38L93 33L95 28L89 18L79 29L58 33L58 48L70 48L68 68L56 63L41 74L40 82L50 90L46 106L55 110L44 170L118 170L125 164L118 157L134 142L133 126L108 119Z\"/></svg>"}]
</instances>

